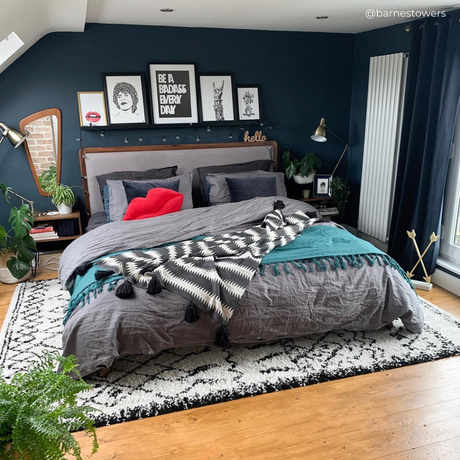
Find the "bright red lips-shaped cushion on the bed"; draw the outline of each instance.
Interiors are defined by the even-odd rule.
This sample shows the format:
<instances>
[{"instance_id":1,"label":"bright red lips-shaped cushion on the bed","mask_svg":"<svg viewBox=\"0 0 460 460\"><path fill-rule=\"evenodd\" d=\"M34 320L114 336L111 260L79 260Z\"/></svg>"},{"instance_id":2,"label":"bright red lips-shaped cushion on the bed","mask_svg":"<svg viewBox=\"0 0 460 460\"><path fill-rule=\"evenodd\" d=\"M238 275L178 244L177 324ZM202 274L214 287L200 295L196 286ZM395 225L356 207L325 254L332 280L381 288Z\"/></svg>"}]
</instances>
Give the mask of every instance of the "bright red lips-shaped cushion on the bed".
<instances>
[{"instance_id":1,"label":"bright red lips-shaped cushion on the bed","mask_svg":"<svg viewBox=\"0 0 460 460\"><path fill-rule=\"evenodd\" d=\"M145 198L134 198L123 220L148 219L180 211L184 195L166 188L152 188Z\"/></svg>"}]
</instances>

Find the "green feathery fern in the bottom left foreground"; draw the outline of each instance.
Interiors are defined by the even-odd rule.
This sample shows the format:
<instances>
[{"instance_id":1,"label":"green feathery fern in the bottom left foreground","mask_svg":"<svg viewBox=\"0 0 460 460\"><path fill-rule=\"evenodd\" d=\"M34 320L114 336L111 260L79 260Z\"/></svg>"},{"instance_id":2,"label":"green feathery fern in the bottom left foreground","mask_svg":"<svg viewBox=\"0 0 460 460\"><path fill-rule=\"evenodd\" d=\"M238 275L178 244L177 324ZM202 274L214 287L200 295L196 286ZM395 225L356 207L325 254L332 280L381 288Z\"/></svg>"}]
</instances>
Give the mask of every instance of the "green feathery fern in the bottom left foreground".
<instances>
[{"instance_id":1,"label":"green feathery fern in the bottom left foreground","mask_svg":"<svg viewBox=\"0 0 460 460\"><path fill-rule=\"evenodd\" d=\"M80 445L70 433L80 429L93 437L92 453L97 452L94 421L88 417L95 409L77 405L77 394L91 385L76 368L74 356L46 353L11 383L0 375L0 458L63 459L70 454L82 460Z\"/></svg>"}]
</instances>

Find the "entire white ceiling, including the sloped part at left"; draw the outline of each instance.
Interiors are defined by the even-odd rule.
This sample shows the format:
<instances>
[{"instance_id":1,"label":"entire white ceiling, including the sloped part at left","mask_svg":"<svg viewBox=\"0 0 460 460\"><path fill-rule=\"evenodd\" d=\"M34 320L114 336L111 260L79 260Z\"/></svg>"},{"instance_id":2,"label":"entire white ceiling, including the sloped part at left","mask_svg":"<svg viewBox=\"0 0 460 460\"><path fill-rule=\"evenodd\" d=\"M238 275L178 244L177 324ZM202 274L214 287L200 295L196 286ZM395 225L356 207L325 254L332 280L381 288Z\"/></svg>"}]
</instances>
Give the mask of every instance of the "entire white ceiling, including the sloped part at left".
<instances>
[{"instance_id":1,"label":"entire white ceiling, including the sloped part at left","mask_svg":"<svg viewBox=\"0 0 460 460\"><path fill-rule=\"evenodd\" d=\"M0 73L50 32L82 32L86 22L228 29L358 33L410 21L367 19L366 10L427 11L459 0L0 0L0 40L11 32L25 45ZM173 8L161 13L160 8ZM318 20L316 16L329 16Z\"/></svg>"}]
</instances>

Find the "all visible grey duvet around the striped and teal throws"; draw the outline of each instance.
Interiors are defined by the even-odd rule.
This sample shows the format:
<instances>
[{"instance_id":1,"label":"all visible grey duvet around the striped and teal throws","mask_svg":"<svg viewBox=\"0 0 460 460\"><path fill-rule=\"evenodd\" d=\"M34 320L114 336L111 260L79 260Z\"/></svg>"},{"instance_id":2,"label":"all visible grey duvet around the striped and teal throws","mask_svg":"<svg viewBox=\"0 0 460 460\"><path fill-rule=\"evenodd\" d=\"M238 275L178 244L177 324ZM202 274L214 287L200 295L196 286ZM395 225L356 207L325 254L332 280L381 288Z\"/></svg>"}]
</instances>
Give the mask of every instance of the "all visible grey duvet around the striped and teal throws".
<instances>
[{"instance_id":1,"label":"all visible grey duvet around the striped and teal throws","mask_svg":"<svg viewBox=\"0 0 460 460\"><path fill-rule=\"evenodd\" d=\"M286 214L312 210L305 203L281 199ZM106 224L66 249L60 260L61 283L71 287L80 264L111 252L259 224L273 209L274 200L256 198ZM119 356L213 343L219 324L205 314L195 323L185 322L187 300L166 290L153 297L144 289L134 290L133 298L122 300L104 289L68 319L63 354L77 357L83 376L109 368ZM252 279L227 330L231 343L255 343L340 329L375 330L397 318L409 332L418 333L423 327L415 292L390 266L364 264L347 270L291 270L290 274L281 270L277 276L265 270L264 276L256 273Z\"/></svg>"}]
</instances>

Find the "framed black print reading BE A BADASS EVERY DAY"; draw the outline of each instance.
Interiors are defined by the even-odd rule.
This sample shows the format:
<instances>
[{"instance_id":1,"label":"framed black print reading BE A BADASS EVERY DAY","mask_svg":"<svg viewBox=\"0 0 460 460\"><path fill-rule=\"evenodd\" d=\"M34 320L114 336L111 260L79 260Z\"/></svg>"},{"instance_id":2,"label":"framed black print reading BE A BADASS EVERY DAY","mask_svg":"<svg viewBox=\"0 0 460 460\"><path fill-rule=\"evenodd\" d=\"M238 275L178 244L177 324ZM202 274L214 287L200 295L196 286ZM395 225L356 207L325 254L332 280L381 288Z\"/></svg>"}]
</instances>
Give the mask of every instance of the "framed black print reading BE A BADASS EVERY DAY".
<instances>
[{"instance_id":1,"label":"framed black print reading BE A BADASS EVERY DAY","mask_svg":"<svg viewBox=\"0 0 460 460\"><path fill-rule=\"evenodd\" d=\"M153 123L171 125L198 122L195 66L150 64Z\"/></svg>"}]
</instances>

